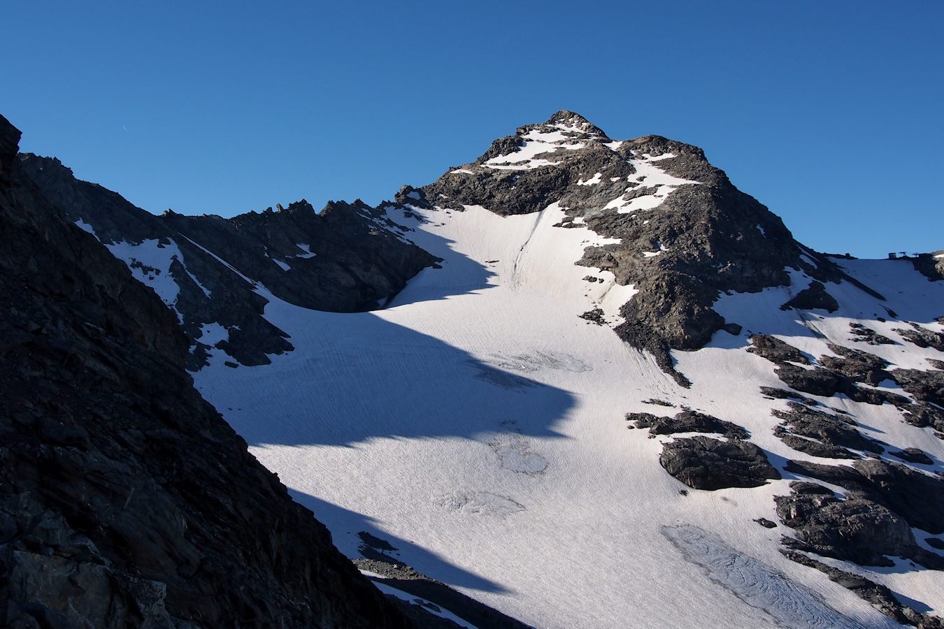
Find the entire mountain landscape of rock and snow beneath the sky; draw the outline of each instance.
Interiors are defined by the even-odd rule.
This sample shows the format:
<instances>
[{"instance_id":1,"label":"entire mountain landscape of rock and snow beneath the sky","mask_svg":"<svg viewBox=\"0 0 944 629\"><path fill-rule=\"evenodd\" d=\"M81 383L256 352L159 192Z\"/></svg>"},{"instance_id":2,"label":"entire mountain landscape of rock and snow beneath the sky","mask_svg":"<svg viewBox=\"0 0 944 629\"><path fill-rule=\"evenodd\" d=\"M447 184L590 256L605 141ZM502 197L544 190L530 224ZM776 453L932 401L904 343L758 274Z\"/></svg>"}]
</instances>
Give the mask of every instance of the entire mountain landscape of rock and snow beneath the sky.
<instances>
[{"instance_id":1,"label":"entire mountain landscape of rock and snow beneath the sky","mask_svg":"<svg viewBox=\"0 0 944 629\"><path fill-rule=\"evenodd\" d=\"M232 218L4 123L8 624L942 626L941 252L567 110Z\"/></svg>"}]
</instances>

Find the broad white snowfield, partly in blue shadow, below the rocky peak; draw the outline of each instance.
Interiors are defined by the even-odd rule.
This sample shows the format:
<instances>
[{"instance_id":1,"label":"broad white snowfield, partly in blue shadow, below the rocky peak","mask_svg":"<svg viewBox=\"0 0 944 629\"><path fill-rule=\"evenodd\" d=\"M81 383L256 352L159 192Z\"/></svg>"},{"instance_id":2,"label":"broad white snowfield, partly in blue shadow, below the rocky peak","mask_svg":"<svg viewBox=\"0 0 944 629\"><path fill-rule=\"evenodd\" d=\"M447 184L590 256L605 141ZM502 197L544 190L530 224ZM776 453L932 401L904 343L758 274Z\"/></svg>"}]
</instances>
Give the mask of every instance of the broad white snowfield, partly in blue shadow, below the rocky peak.
<instances>
[{"instance_id":1,"label":"broad white snowfield, partly in blue shadow, below the rocky peak","mask_svg":"<svg viewBox=\"0 0 944 629\"><path fill-rule=\"evenodd\" d=\"M773 496L795 476L683 495L658 463L666 438L624 421L631 411L678 412L642 402L660 398L744 425L778 468L809 458L773 436L769 409L785 405L758 387L783 385L745 351L748 335L775 334L814 356L829 353L827 339L850 345L854 321L901 340L895 323L876 320L884 310L874 298L831 284L842 309L804 321L778 307L808 284L799 272L790 289L722 296L716 309L744 332L675 353L693 382L680 389L612 329L579 318L601 306L615 323L634 291L574 264L602 240L553 227L563 217L556 205L505 218L482 207L412 208L419 219L388 211L444 258L442 269L419 273L386 309L358 314L292 306L260 285L266 318L295 351L230 369L213 350L194 374L344 553L360 556L357 534L367 531L417 571L539 627L898 626L786 560L784 526L751 521L777 521ZM942 329L933 317L944 283L902 262L842 264L902 319ZM588 273L603 281L584 281ZM919 297L896 299L899 290ZM868 351L920 369L936 354L907 343ZM868 435L944 460L930 429L903 423L891 406L842 404ZM944 612L940 572L906 560L882 571L826 561Z\"/></svg>"}]
</instances>

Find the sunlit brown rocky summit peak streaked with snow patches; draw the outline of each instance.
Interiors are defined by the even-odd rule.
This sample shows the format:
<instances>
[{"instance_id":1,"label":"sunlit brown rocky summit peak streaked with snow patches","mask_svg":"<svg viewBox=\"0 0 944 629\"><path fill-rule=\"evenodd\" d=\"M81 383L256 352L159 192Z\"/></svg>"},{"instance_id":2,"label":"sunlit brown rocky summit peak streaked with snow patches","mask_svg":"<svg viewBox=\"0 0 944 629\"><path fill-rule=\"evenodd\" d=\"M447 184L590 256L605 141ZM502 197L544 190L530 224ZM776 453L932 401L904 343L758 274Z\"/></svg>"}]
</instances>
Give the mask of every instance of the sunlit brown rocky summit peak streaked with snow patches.
<instances>
[{"instance_id":1,"label":"sunlit brown rocky summit peak streaked with snow patches","mask_svg":"<svg viewBox=\"0 0 944 629\"><path fill-rule=\"evenodd\" d=\"M558 203L566 214L559 227L620 239L587 248L580 264L612 271L617 283L639 290L622 307L625 323L616 333L648 350L683 386L688 381L669 350L699 349L725 327L712 308L721 291L787 286L786 267L821 281L845 277L734 188L698 147L659 136L611 141L570 111L519 128L420 190L435 206L478 205L501 215Z\"/></svg>"}]
</instances>

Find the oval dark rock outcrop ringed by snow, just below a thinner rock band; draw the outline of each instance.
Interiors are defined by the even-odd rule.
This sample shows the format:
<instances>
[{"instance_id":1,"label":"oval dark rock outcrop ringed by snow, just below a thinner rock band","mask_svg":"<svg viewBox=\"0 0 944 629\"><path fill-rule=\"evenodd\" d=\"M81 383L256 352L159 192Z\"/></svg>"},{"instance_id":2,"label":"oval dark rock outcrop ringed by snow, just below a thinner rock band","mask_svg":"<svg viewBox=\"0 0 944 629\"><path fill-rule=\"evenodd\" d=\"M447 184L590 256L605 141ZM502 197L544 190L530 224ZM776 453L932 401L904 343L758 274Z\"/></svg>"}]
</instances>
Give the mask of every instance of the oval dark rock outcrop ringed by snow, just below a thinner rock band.
<instances>
[{"instance_id":1,"label":"oval dark rock outcrop ringed by snow, just below a thinner rock band","mask_svg":"<svg viewBox=\"0 0 944 629\"><path fill-rule=\"evenodd\" d=\"M690 488L760 487L780 472L750 441L709 437L674 439L663 446L659 463Z\"/></svg>"}]
</instances>

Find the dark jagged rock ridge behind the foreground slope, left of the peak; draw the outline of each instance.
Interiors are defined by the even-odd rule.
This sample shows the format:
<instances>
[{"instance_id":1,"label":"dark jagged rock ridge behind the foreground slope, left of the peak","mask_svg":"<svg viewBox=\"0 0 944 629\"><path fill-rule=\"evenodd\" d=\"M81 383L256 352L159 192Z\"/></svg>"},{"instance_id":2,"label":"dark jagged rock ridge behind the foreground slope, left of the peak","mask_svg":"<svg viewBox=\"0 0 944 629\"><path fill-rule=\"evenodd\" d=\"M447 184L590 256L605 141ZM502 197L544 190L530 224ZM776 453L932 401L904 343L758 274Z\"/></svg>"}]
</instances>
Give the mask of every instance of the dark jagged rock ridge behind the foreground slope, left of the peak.
<instances>
[{"instance_id":1,"label":"dark jagged rock ridge behind the foreground slope, left of the peak","mask_svg":"<svg viewBox=\"0 0 944 629\"><path fill-rule=\"evenodd\" d=\"M285 333L262 317L269 300L261 287L296 306L370 310L437 259L404 240L401 228L379 209L360 201L329 203L321 213L302 200L231 219L170 210L155 216L115 192L77 180L58 159L27 154L21 161L43 194L70 221L93 229L132 270L141 270L139 279L159 284L161 273L170 275L176 296L168 306L191 339L193 370L206 364L211 347L247 366L267 364L267 355L293 349ZM133 245L163 249L158 257L169 258L169 266L147 266L135 258L143 254ZM204 338L207 325L220 326L226 338Z\"/></svg>"}]
</instances>

